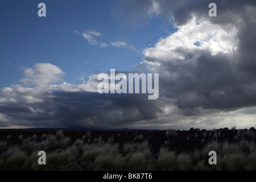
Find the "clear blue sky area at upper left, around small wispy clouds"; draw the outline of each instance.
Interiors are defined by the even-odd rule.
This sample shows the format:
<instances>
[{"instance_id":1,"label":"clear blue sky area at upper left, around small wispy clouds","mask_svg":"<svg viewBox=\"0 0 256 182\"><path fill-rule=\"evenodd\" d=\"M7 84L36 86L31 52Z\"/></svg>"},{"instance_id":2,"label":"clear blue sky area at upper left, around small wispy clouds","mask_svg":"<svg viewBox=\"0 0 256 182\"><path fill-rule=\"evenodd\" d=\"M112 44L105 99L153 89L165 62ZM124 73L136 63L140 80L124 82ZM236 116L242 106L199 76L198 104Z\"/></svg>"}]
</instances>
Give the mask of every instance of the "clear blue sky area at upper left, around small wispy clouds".
<instances>
[{"instance_id":1,"label":"clear blue sky area at upper left, around small wispy clouds","mask_svg":"<svg viewBox=\"0 0 256 182\"><path fill-rule=\"evenodd\" d=\"M20 84L20 68L35 63L57 65L71 83L110 68L131 71L143 61L144 48L174 31L168 22L150 16L141 27L126 26L113 15L115 1L44 1L46 17L38 16L39 3L1 1L1 87ZM81 35L85 31L100 32L97 40L109 46L88 43ZM125 42L134 49L111 42Z\"/></svg>"}]
</instances>

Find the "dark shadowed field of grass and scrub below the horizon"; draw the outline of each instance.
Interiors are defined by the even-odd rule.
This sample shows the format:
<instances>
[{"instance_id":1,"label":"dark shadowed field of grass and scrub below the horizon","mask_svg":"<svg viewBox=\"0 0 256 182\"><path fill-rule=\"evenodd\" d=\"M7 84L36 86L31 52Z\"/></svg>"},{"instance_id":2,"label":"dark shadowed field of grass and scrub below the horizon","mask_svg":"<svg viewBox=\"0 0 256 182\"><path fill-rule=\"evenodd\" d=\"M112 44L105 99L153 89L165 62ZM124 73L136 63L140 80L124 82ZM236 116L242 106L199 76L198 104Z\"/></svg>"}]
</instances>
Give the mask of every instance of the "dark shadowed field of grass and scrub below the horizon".
<instances>
[{"instance_id":1,"label":"dark shadowed field of grass and scrub below the horizon","mask_svg":"<svg viewBox=\"0 0 256 182\"><path fill-rule=\"evenodd\" d=\"M0 130L1 170L256 170L255 129ZM46 151L46 165L38 151ZM217 165L208 163L216 151Z\"/></svg>"}]
</instances>

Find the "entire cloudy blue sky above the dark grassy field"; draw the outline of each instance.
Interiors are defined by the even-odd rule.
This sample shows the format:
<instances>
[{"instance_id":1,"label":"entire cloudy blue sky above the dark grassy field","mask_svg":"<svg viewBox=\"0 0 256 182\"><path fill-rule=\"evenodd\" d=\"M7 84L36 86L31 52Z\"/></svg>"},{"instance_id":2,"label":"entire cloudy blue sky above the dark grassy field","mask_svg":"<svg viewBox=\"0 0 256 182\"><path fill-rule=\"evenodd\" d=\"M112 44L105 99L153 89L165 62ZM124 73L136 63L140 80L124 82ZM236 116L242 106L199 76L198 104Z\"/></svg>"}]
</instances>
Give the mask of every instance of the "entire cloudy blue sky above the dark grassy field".
<instances>
[{"instance_id":1,"label":"entire cloudy blue sky above the dark grassy field","mask_svg":"<svg viewBox=\"0 0 256 182\"><path fill-rule=\"evenodd\" d=\"M0 128L256 126L253 0L3 0L0 27ZM110 69L159 97L98 93Z\"/></svg>"}]
</instances>

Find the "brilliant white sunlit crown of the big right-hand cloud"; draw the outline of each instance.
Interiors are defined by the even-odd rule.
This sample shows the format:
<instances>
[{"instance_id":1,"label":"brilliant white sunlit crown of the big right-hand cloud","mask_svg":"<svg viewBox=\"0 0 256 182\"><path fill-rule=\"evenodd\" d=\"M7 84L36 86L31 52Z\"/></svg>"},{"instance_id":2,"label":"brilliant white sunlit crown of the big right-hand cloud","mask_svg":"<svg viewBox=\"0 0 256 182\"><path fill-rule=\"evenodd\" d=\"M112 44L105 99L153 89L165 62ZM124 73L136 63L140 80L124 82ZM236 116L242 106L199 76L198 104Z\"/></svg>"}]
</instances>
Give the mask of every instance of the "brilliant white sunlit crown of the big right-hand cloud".
<instances>
[{"instance_id":1,"label":"brilliant white sunlit crown of the big right-hand cloud","mask_svg":"<svg viewBox=\"0 0 256 182\"><path fill-rule=\"evenodd\" d=\"M174 34L160 38L155 47L144 49L144 55L160 61L183 60L184 53L188 52L205 50L217 55L232 52L238 47L236 27L224 30L207 20L198 22L194 16L187 24L177 28L179 30Z\"/></svg>"}]
</instances>

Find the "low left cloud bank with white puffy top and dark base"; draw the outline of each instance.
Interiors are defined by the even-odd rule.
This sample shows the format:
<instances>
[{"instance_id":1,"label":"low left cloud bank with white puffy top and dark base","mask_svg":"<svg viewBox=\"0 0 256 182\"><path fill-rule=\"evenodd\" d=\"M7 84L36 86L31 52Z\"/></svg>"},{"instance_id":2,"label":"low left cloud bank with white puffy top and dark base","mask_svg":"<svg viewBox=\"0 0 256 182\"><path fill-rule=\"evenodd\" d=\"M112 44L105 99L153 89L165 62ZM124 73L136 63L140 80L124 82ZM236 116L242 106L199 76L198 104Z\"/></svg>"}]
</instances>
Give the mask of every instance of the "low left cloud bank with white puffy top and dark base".
<instances>
[{"instance_id":1,"label":"low left cloud bank with white puffy top and dark base","mask_svg":"<svg viewBox=\"0 0 256 182\"><path fill-rule=\"evenodd\" d=\"M33 73L32 76L27 74L26 79L36 83L35 88L13 85L0 89L0 127L79 125L113 128L122 127L124 123L158 118L158 114L162 113L161 103L148 100L147 94L99 94L97 75L91 76L84 84L64 82L51 85L44 78L57 78L59 75L56 73L63 74L55 65L36 64L36 67L24 69L24 72ZM47 74L43 75L44 72ZM40 84L42 80L44 86Z\"/></svg>"}]
</instances>

